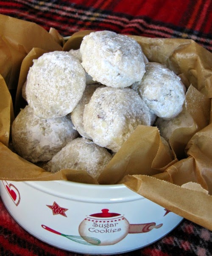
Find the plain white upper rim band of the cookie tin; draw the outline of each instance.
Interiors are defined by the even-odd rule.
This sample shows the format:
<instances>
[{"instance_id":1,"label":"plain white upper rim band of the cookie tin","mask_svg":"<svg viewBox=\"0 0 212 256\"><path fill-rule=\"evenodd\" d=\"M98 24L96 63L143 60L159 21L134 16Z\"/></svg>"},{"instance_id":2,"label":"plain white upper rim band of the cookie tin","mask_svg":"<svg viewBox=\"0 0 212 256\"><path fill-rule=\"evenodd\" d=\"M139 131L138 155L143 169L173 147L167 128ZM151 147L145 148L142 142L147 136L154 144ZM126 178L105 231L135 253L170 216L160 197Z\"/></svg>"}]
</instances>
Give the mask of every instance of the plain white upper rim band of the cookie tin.
<instances>
[{"instance_id":1,"label":"plain white upper rim band of the cookie tin","mask_svg":"<svg viewBox=\"0 0 212 256\"><path fill-rule=\"evenodd\" d=\"M51 196L78 202L114 203L145 199L124 184L98 185L65 180L24 181L23 183Z\"/></svg>"}]
</instances>

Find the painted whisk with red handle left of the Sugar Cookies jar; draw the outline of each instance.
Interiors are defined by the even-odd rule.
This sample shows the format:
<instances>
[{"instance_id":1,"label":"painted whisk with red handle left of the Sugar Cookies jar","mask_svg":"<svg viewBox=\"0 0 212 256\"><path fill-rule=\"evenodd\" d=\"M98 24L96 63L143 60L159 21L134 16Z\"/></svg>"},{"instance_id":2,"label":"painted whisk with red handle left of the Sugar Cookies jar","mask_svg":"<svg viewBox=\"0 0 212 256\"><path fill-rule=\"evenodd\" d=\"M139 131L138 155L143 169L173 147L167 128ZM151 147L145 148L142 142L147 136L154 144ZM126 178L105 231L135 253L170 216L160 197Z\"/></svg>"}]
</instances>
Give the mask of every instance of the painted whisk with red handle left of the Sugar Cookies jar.
<instances>
[{"instance_id":1,"label":"painted whisk with red handle left of the Sugar Cookies jar","mask_svg":"<svg viewBox=\"0 0 212 256\"><path fill-rule=\"evenodd\" d=\"M52 233L55 233L57 235L60 236L64 236L74 242L77 242L79 244L83 244L83 245L99 245L100 244L100 240L98 238L94 238L94 237L88 237L88 236L71 236L71 235L65 235L63 233L60 233L52 228L49 228L45 225L41 225L42 228L44 228L47 231L50 231Z\"/></svg>"}]
</instances>

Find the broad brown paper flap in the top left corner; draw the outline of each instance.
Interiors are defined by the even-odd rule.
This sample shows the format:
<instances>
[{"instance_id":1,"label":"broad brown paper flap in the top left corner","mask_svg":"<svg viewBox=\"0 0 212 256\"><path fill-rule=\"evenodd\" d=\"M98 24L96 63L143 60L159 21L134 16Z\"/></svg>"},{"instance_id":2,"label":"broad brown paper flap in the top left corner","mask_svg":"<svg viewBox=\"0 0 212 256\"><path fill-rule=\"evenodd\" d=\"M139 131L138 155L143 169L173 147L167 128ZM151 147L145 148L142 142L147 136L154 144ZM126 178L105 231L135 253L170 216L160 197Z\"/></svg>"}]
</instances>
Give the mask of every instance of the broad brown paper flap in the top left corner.
<instances>
[{"instance_id":1,"label":"broad brown paper flap in the top left corner","mask_svg":"<svg viewBox=\"0 0 212 256\"><path fill-rule=\"evenodd\" d=\"M0 74L8 89L15 89L23 58L33 47L61 50L56 37L35 23L0 14Z\"/></svg>"}]
</instances>

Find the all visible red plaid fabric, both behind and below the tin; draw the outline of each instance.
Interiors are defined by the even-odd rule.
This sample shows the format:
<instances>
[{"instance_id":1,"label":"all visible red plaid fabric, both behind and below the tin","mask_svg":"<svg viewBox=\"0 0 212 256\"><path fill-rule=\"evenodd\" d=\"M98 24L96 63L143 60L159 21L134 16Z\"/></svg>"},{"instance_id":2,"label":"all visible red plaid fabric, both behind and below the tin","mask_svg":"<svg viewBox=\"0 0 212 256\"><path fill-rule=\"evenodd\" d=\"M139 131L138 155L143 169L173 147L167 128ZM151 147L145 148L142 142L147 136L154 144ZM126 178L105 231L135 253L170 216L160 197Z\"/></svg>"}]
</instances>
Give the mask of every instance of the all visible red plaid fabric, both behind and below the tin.
<instances>
[{"instance_id":1,"label":"all visible red plaid fabric, both behind and below the tin","mask_svg":"<svg viewBox=\"0 0 212 256\"><path fill-rule=\"evenodd\" d=\"M188 38L212 51L212 0L5 0L0 14L28 20L62 36L112 30L147 37ZM153 245L120 256L211 256L212 232L188 220ZM88 252L89 253L89 252ZM23 230L0 200L0 256L79 256Z\"/></svg>"}]
</instances>

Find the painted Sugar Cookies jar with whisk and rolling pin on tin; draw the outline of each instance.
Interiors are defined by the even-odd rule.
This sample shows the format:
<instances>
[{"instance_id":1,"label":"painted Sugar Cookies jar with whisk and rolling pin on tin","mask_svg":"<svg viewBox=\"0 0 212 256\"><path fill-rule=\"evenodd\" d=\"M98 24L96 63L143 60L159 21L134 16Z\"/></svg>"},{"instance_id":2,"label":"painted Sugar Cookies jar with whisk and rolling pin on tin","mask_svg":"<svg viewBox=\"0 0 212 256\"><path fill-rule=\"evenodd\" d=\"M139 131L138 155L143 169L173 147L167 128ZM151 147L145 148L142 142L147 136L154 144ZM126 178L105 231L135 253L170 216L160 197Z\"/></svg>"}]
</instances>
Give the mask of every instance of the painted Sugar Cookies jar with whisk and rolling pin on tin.
<instances>
[{"instance_id":1,"label":"painted Sugar Cookies jar with whisk and rolling pin on tin","mask_svg":"<svg viewBox=\"0 0 212 256\"><path fill-rule=\"evenodd\" d=\"M84 245L114 245L128 234L146 233L163 225L162 223L156 225L155 222L130 224L122 214L110 213L109 209L101 211L101 213L90 214L80 223L78 228L80 236L65 235L46 225L41 226L47 231Z\"/></svg>"}]
</instances>

